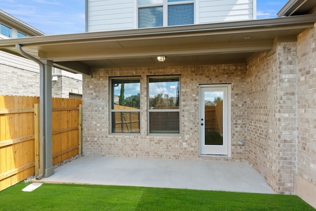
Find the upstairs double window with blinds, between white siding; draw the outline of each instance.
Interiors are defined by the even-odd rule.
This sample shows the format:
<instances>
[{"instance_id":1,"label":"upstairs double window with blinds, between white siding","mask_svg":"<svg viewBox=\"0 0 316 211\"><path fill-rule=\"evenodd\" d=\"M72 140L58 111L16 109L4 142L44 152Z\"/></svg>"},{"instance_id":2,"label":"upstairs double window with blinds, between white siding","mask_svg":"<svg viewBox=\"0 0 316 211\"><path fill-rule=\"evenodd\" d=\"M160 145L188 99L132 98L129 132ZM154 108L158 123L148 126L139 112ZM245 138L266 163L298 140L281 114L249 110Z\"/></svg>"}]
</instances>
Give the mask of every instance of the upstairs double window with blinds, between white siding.
<instances>
[{"instance_id":1,"label":"upstairs double window with blinds, between white siding","mask_svg":"<svg viewBox=\"0 0 316 211\"><path fill-rule=\"evenodd\" d=\"M138 28L194 24L194 0L138 0Z\"/></svg>"}]
</instances>

